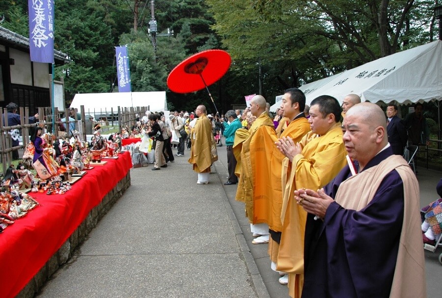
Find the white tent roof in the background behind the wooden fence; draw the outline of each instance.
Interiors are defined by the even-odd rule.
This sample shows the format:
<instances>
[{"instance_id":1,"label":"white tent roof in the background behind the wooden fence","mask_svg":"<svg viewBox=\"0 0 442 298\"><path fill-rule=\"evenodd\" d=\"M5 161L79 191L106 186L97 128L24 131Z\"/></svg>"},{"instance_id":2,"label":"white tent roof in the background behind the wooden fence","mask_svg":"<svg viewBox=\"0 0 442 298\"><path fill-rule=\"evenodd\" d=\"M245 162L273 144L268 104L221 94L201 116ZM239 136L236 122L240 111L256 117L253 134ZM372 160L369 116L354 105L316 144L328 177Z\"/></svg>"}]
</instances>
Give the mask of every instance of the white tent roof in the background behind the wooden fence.
<instances>
[{"instance_id":1,"label":"white tent roof in the background behind the wooden fence","mask_svg":"<svg viewBox=\"0 0 442 298\"><path fill-rule=\"evenodd\" d=\"M121 93L79 93L75 94L70 108L84 106L86 113L116 112L118 107L149 107L151 111L167 110L166 91L121 92Z\"/></svg>"}]
</instances>

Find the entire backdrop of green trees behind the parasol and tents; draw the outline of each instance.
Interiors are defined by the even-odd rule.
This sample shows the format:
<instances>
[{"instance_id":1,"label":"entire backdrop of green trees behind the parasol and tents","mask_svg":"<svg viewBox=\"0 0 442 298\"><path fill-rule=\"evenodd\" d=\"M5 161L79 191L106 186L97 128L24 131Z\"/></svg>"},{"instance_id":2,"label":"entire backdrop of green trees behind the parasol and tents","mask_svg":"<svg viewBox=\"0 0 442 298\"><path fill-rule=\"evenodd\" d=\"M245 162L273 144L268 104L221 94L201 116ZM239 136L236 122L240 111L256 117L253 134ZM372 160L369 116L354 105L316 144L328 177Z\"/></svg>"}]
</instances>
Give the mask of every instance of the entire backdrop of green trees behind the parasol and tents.
<instances>
[{"instance_id":1,"label":"entire backdrop of green trees behind the parasol and tents","mask_svg":"<svg viewBox=\"0 0 442 298\"><path fill-rule=\"evenodd\" d=\"M134 6L138 29L133 32ZM288 87L322 79L381 56L426 43L434 0L157 0L156 57L147 33L150 0L56 0L55 49L71 63L56 67L66 100L109 92L116 79L117 45L129 47L133 91L167 91L169 108L214 106L206 90L170 92L168 73L208 49L232 57L227 74L209 86L221 112L259 93L273 103ZM0 0L0 26L28 36L27 1ZM385 13L384 13L385 12ZM261 75L259 74L261 70Z\"/></svg>"}]
</instances>

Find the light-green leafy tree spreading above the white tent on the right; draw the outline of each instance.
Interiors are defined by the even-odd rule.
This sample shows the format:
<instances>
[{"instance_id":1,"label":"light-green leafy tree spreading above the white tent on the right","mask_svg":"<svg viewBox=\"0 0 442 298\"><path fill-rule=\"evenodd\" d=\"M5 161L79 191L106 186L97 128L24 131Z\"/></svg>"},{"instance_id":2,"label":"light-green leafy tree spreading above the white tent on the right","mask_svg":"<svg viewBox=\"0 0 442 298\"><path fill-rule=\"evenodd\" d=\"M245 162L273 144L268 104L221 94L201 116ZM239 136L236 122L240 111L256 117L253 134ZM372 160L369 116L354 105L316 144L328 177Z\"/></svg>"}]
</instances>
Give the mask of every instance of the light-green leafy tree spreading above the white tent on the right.
<instances>
[{"instance_id":1,"label":"light-green leafy tree spreading above the white tent on the right","mask_svg":"<svg viewBox=\"0 0 442 298\"><path fill-rule=\"evenodd\" d=\"M423 0L206 2L216 20L213 28L232 55L232 70L256 72L261 61L268 96L427 42L433 5Z\"/></svg>"}]
</instances>

